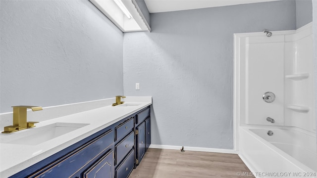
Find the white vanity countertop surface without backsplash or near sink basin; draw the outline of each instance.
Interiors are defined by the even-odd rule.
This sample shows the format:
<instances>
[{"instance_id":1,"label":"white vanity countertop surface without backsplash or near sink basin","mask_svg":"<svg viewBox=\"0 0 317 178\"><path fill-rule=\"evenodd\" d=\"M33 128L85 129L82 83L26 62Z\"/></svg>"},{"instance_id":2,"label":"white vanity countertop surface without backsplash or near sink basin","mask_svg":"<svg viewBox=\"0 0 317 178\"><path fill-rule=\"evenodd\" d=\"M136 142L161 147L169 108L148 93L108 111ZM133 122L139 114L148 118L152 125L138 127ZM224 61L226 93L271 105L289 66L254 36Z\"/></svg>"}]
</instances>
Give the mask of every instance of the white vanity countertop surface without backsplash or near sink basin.
<instances>
[{"instance_id":1,"label":"white vanity countertop surface without backsplash or near sink basin","mask_svg":"<svg viewBox=\"0 0 317 178\"><path fill-rule=\"evenodd\" d=\"M128 98L128 97L127 97ZM84 123L85 127L63 134L38 145L19 145L0 143L0 177L7 178L33 164L63 150L64 148L105 129L106 127L124 119L125 117L152 104L152 97L132 97L125 103L140 103L138 106L105 106L97 109L79 112L72 115L50 119L36 124L36 129L53 123ZM45 109L45 108L43 108ZM18 131L27 132L30 129ZM11 133L11 134L15 134ZM9 134L0 134L3 139Z\"/></svg>"}]
</instances>

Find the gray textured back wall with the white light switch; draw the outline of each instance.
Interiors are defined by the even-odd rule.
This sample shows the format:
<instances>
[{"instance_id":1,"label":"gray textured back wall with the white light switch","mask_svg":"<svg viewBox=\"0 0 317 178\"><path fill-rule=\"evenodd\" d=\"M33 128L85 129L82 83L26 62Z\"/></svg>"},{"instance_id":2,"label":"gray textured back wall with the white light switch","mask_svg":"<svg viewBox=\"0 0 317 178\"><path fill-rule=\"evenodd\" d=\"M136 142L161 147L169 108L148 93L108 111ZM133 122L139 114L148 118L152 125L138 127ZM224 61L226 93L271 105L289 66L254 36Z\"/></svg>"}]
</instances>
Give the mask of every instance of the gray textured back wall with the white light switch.
<instances>
[{"instance_id":1,"label":"gray textured back wall with the white light switch","mask_svg":"<svg viewBox=\"0 0 317 178\"><path fill-rule=\"evenodd\" d=\"M153 96L152 143L232 149L233 34L295 19L286 0L154 13L151 33L125 33L124 94Z\"/></svg>"}]
</instances>

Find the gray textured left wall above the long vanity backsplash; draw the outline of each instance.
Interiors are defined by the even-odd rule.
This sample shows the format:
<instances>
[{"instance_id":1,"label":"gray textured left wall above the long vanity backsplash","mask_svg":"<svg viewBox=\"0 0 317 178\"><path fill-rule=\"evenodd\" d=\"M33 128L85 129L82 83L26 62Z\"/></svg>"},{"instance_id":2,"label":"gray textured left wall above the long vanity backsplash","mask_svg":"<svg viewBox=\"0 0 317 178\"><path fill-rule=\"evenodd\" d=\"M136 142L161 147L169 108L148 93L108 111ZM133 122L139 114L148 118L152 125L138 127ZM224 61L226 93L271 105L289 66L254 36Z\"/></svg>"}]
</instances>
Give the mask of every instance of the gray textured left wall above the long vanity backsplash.
<instances>
[{"instance_id":1,"label":"gray textured left wall above the long vanity backsplash","mask_svg":"<svg viewBox=\"0 0 317 178\"><path fill-rule=\"evenodd\" d=\"M0 113L123 94L123 34L90 1L0 4Z\"/></svg>"}]
</instances>

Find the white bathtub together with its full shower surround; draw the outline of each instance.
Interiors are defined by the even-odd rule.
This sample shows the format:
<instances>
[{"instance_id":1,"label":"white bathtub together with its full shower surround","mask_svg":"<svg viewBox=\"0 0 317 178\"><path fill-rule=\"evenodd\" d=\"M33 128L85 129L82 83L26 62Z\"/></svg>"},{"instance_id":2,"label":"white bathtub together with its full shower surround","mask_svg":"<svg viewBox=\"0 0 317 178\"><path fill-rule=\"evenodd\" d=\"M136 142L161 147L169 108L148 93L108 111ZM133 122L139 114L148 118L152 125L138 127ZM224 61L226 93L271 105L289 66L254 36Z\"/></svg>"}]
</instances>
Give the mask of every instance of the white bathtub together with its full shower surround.
<instances>
[{"instance_id":1,"label":"white bathtub together with its full shower surround","mask_svg":"<svg viewBox=\"0 0 317 178\"><path fill-rule=\"evenodd\" d=\"M263 32L234 37L235 147L240 157L254 173L317 172L312 23L271 37ZM271 103L263 99L268 91L276 96Z\"/></svg>"}]
</instances>

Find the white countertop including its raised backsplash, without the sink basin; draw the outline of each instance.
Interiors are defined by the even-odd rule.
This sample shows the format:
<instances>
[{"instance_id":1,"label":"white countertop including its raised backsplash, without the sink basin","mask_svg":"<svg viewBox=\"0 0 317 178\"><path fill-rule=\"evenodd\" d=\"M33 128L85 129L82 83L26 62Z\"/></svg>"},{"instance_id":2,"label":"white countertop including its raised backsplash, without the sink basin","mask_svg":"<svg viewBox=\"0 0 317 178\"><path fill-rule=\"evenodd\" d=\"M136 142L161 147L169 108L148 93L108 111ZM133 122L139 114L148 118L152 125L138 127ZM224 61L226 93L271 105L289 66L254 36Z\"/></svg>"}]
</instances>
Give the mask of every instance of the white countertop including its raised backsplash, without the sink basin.
<instances>
[{"instance_id":1,"label":"white countertop including its raised backsplash, without the sink basin","mask_svg":"<svg viewBox=\"0 0 317 178\"><path fill-rule=\"evenodd\" d=\"M138 106L111 106L115 98L68 104L62 106L44 107L43 111L28 112L28 121L38 121L35 128L18 131L11 134L0 134L0 177L9 177L15 173L63 150L64 148L98 132L115 122L152 104L152 97L126 97L125 103L139 103ZM12 113L0 115L8 119ZM48 119L49 118L49 119ZM1 130L5 125L1 123ZM54 123L87 124L67 134L60 135L37 145L20 145L2 143L6 136L39 129Z\"/></svg>"}]
</instances>

